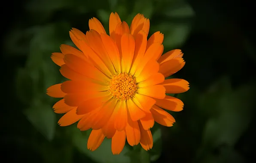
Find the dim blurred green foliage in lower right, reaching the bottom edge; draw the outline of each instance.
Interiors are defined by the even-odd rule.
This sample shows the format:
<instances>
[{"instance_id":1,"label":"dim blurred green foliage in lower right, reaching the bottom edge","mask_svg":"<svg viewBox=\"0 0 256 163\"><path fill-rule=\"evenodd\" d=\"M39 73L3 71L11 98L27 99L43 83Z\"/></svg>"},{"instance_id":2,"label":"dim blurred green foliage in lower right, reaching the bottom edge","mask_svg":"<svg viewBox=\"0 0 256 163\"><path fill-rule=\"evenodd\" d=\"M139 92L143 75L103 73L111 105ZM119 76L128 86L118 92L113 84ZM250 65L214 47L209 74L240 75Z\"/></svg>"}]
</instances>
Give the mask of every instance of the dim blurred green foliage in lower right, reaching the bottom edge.
<instances>
[{"instance_id":1,"label":"dim blurred green foliage in lower right, reaching the bottom edge","mask_svg":"<svg viewBox=\"0 0 256 163\"><path fill-rule=\"evenodd\" d=\"M198 150L202 162L244 162L234 146L250 124L256 104L253 97L255 91L256 87L250 83L232 91L228 78L221 78L207 94L202 95L201 107L210 111ZM219 150L218 157L212 154L214 149Z\"/></svg>"}]
</instances>

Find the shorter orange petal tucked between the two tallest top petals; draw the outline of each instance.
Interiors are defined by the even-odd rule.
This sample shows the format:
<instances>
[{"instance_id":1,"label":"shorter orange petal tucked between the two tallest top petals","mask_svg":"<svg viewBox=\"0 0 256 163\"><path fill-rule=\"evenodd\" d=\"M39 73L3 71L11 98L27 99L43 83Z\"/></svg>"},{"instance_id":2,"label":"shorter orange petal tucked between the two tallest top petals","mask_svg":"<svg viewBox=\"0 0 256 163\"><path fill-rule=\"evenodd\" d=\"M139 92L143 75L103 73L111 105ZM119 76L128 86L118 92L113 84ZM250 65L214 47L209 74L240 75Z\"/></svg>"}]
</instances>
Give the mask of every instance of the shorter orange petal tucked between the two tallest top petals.
<instances>
[{"instance_id":1,"label":"shorter orange petal tucked between the two tallest top petals","mask_svg":"<svg viewBox=\"0 0 256 163\"><path fill-rule=\"evenodd\" d=\"M129 31L129 26L128 24L123 21L123 22L119 22L116 25L116 30L115 30L115 39L116 39L116 46L119 50L119 54L120 56L122 56L122 50L121 50L121 37L124 33L130 33Z\"/></svg>"}]
</instances>

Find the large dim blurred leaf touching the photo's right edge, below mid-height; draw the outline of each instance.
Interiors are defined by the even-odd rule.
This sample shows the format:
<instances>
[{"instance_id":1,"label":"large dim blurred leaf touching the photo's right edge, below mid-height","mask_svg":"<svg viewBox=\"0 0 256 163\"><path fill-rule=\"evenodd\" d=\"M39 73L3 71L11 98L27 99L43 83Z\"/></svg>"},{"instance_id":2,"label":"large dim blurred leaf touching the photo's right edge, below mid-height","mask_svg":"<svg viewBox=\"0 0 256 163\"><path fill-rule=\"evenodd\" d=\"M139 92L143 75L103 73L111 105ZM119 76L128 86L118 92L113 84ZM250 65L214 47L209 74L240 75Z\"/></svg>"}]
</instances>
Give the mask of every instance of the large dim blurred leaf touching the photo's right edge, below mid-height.
<instances>
[{"instance_id":1,"label":"large dim blurred leaf touching the photo's right edge, below mid-height","mask_svg":"<svg viewBox=\"0 0 256 163\"><path fill-rule=\"evenodd\" d=\"M252 118L256 102L255 91L254 85L244 85L231 94L223 94L222 98L216 101L219 115L207 122L204 130L204 145L233 146L237 142Z\"/></svg>"}]
</instances>

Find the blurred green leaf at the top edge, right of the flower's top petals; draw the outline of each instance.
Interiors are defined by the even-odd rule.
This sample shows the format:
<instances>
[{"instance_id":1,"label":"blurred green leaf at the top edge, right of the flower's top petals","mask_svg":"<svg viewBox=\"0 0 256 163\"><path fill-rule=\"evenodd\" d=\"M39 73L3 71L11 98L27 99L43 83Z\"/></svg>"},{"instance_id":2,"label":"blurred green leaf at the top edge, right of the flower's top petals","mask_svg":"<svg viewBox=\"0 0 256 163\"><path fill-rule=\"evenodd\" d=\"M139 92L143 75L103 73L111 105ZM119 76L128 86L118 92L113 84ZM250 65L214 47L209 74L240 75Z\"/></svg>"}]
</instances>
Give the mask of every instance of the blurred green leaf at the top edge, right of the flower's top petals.
<instances>
[{"instance_id":1,"label":"blurred green leaf at the top edge, right of the flower's top petals","mask_svg":"<svg viewBox=\"0 0 256 163\"><path fill-rule=\"evenodd\" d=\"M165 49L179 48L189 36L192 27L194 12L192 7L184 0L171 0L162 3L159 16L166 18L158 24L151 24L151 31L160 31L164 34L163 45Z\"/></svg>"}]
</instances>

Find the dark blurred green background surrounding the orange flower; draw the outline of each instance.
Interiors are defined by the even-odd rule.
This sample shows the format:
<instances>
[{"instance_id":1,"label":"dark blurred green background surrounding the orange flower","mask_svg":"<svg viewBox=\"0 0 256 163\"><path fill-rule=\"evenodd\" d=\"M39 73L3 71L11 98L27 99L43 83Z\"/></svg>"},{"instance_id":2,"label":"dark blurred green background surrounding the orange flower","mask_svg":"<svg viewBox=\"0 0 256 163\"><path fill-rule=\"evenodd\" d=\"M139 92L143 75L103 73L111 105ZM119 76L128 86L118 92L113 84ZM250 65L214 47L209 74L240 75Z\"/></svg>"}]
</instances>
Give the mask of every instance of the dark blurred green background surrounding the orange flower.
<instances>
[{"instance_id":1,"label":"dark blurred green background surrounding the orange flower","mask_svg":"<svg viewBox=\"0 0 256 163\"><path fill-rule=\"evenodd\" d=\"M1 153L9 162L37 163L250 163L256 160L255 8L247 0L23 0L2 6ZM186 65L175 78L190 83L172 112L173 127L152 129L150 151L125 146L111 153L105 139L91 152L89 132L59 127L58 99L46 88L66 80L50 59L73 45L71 27L88 30L98 18L108 31L111 12L131 23L150 19L149 36L165 35L165 52L180 48Z\"/></svg>"}]
</instances>

